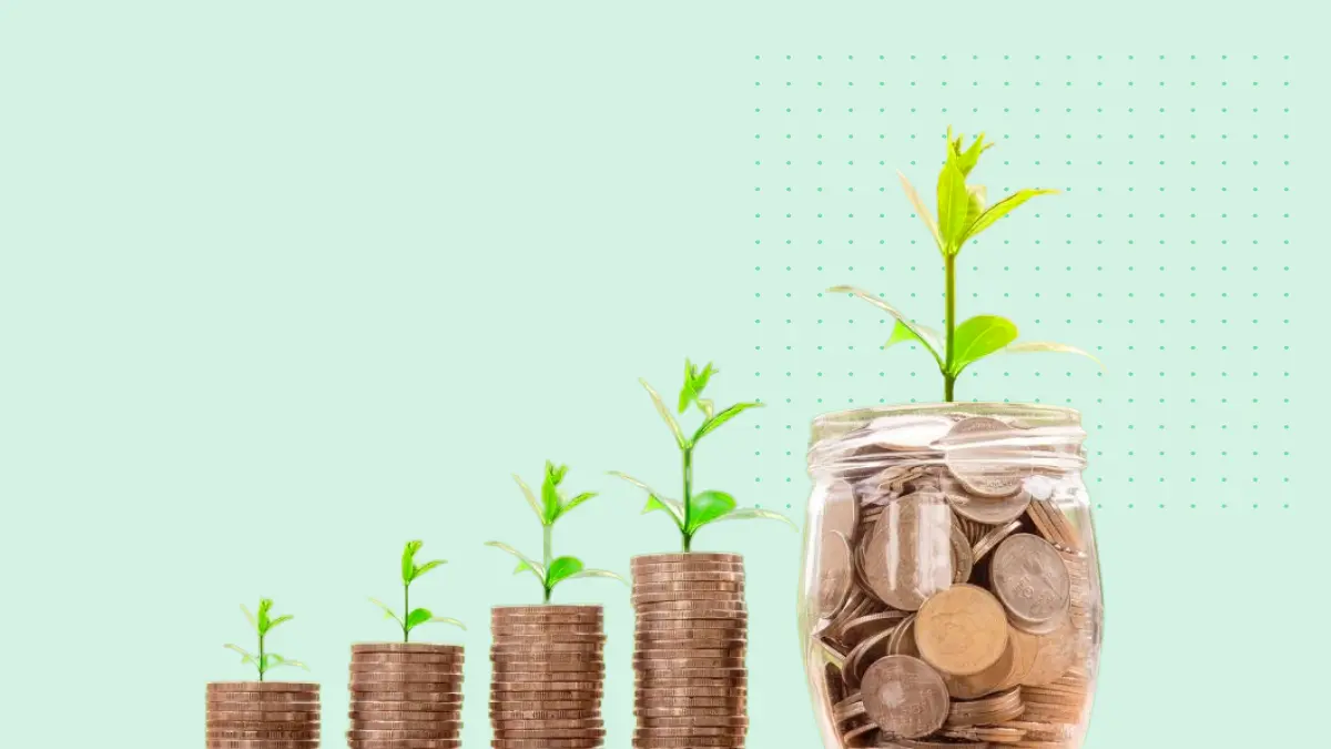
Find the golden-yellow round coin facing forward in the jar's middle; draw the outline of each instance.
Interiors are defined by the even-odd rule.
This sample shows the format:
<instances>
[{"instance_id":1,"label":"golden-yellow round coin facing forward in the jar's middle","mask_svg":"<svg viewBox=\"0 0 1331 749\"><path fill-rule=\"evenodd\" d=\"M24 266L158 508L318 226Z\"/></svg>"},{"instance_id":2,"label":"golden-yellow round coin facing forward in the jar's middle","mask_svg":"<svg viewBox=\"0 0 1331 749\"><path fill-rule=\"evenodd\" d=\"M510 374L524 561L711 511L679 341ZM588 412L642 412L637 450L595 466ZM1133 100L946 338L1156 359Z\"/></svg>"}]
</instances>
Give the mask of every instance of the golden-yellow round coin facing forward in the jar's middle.
<instances>
[{"instance_id":1,"label":"golden-yellow round coin facing forward in the jar's middle","mask_svg":"<svg viewBox=\"0 0 1331 749\"><path fill-rule=\"evenodd\" d=\"M984 588L954 585L920 608L914 637L928 664L952 676L970 676L1002 656L1008 618Z\"/></svg>"}]
</instances>

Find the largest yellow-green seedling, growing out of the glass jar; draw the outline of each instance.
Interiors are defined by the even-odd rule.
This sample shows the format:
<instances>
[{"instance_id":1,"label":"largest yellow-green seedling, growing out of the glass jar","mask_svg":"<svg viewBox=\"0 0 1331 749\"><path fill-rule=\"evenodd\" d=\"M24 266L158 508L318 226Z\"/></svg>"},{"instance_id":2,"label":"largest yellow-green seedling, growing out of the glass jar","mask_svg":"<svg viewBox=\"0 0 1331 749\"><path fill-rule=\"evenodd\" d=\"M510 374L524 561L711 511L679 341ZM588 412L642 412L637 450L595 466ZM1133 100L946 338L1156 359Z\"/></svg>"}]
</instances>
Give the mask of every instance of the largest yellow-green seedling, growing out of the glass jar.
<instances>
[{"instance_id":1,"label":"largest yellow-green seedling, growing out of the glass jar","mask_svg":"<svg viewBox=\"0 0 1331 749\"><path fill-rule=\"evenodd\" d=\"M960 325L957 319L957 256L961 248L973 241L981 232L990 228L1000 219L1012 213L1018 205L1028 200L1057 193L1057 189L1020 189L1013 195L994 203L986 204L984 185L968 185L966 177L980 161L980 155L993 147L985 143L985 133L980 133L969 148L962 151L961 143L965 136L958 135L952 139L952 128L948 128L948 160L938 173L937 200L938 220L934 221L929 208L920 200L910 181L905 175L897 172L901 187L906 197L914 207L914 212L924 221L933 236L933 243L942 255L944 268L944 299L946 304L945 331L942 335L926 325L921 325L905 316L897 308L882 299L855 287L832 287L828 292L847 292L857 296L878 309L882 309L893 319L896 325L892 336L882 345L884 349L902 341L917 343L938 365L942 373L942 397L945 401L953 400L957 377L966 367L980 361L993 353L1033 353L1033 352L1062 352L1086 356L1099 364L1094 356L1078 348L1057 344L1053 341L1017 341L1017 325L1006 317L997 315L978 315Z\"/></svg>"}]
</instances>

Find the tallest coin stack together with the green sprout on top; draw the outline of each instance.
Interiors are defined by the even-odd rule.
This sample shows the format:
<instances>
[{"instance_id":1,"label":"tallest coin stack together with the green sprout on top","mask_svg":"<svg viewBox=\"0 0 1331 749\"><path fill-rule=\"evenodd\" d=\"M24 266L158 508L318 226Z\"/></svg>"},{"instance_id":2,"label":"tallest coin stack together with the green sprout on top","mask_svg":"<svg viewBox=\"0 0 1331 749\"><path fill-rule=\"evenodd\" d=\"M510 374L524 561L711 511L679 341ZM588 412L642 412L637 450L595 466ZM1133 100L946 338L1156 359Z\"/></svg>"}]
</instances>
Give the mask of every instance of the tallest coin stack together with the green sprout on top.
<instances>
[{"instance_id":1,"label":"tallest coin stack together with the green sprout on top","mask_svg":"<svg viewBox=\"0 0 1331 749\"><path fill-rule=\"evenodd\" d=\"M693 490L693 457L703 437L712 434L757 402L717 410L704 388L717 371L684 361L677 410L691 406L703 417L688 436L662 397L643 381L683 458L683 498L673 500L647 484L620 478L647 492L647 512L663 512L680 532L683 553L634 557L634 648L638 726L634 746L744 746L748 732L748 612L744 605L744 560L739 554L696 553L693 534L721 520L780 520L783 514L737 508L725 492Z\"/></svg>"}]
</instances>

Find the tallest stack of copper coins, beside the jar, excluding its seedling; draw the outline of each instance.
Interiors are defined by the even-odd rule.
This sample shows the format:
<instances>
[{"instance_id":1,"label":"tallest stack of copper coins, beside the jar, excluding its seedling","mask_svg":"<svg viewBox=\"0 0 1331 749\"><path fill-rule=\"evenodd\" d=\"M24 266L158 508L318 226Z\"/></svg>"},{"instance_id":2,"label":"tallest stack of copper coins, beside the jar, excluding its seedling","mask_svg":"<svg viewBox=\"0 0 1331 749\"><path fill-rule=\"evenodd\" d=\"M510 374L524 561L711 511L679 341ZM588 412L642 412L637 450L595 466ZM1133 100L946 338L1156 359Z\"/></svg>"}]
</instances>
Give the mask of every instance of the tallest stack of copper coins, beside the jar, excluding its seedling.
<instances>
[{"instance_id":1,"label":"tallest stack of copper coins, beside the jar, excluding its seedling","mask_svg":"<svg viewBox=\"0 0 1331 749\"><path fill-rule=\"evenodd\" d=\"M744 560L739 554L652 554L635 557L632 573L638 613L634 746L744 746Z\"/></svg>"}]
</instances>

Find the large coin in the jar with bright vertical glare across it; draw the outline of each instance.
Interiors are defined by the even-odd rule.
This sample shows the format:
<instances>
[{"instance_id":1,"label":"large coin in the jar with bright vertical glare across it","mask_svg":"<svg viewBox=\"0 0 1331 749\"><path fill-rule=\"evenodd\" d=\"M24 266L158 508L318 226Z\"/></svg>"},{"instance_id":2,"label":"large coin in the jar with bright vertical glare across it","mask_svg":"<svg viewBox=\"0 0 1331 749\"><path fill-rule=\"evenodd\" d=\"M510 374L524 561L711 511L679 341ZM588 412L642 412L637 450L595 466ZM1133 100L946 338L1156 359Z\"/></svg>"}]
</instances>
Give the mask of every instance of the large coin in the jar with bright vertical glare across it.
<instances>
[{"instance_id":1,"label":"large coin in the jar with bright vertical glare across it","mask_svg":"<svg viewBox=\"0 0 1331 749\"><path fill-rule=\"evenodd\" d=\"M952 585L952 513L938 493L884 508L864 550L864 578L892 608L913 612Z\"/></svg>"}]
</instances>

